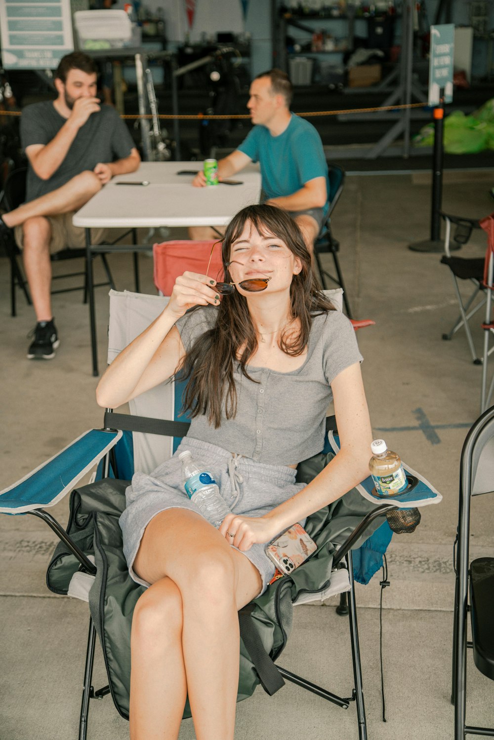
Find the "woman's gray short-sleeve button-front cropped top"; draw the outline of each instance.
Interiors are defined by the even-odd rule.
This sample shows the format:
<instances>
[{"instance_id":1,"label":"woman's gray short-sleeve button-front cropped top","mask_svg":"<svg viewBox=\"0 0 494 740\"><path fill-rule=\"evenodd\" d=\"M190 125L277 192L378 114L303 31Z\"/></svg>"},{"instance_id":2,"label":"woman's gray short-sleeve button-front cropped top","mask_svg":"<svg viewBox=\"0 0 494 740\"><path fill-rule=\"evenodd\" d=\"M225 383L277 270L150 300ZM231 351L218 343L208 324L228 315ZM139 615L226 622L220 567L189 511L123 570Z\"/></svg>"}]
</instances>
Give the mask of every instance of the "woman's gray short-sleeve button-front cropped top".
<instances>
[{"instance_id":1,"label":"woman's gray short-sleeve button-front cropped top","mask_svg":"<svg viewBox=\"0 0 494 740\"><path fill-rule=\"evenodd\" d=\"M201 307L176 322L187 350L196 338L212 329L218 309ZM217 429L200 415L190 425L189 437L269 465L294 465L321 451L325 417L333 399L330 383L350 365L361 362L355 332L339 311L313 317L307 355L296 370L248 365L249 380L236 366L237 411L221 420Z\"/></svg>"}]
</instances>

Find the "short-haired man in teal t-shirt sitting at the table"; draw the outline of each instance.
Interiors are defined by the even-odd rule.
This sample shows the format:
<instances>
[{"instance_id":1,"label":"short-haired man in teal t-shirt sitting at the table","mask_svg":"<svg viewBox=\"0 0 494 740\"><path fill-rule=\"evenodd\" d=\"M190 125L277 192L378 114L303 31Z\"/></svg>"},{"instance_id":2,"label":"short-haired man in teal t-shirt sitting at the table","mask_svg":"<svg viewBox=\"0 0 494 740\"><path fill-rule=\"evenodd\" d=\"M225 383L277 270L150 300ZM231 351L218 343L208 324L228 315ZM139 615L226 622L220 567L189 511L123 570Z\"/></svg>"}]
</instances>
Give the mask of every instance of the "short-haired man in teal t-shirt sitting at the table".
<instances>
[{"instance_id":1,"label":"short-haired man in teal t-shirt sitting at the table","mask_svg":"<svg viewBox=\"0 0 494 740\"><path fill-rule=\"evenodd\" d=\"M281 70L264 72L253 80L247 107L256 125L238 149L218 162L218 175L229 178L251 161L259 162L261 200L290 212L312 252L327 215L327 164L316 129L290 112L292 94L288 75ZM193 184L206 184L203 172L198 172ZM211 238L207 227L190 229L190 235Z\"/></svg>"}]
</instances>

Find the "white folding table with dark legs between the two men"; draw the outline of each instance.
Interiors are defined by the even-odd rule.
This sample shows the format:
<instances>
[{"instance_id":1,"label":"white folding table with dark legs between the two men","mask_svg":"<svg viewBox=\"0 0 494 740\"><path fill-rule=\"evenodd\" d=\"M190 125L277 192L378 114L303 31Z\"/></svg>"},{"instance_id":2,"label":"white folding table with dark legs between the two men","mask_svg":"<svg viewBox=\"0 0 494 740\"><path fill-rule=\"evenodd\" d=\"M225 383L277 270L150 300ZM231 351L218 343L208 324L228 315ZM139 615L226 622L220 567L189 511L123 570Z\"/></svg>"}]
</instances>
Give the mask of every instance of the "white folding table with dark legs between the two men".
<instances>
[{"instance_id":1,"label":"white folding table with dark legs between the two men","mask_svg":"<svg viewBox=\"0 0 494 740\"><path fill-rule=\"evenodd\" d=\"M193 187L193 175L177 174L181 170L198 169L201 169L199 162L143 162L137 172L113 178L74 215L74 226L86 229L93 375L98 375L93 256L99 252L136 253L150 249L151 245L92 244L90 229L225 226L241 208L259 202L261 175L257 169L250 167L236 175L240 185L202 188Z\"/></svg>"}]
</instances>

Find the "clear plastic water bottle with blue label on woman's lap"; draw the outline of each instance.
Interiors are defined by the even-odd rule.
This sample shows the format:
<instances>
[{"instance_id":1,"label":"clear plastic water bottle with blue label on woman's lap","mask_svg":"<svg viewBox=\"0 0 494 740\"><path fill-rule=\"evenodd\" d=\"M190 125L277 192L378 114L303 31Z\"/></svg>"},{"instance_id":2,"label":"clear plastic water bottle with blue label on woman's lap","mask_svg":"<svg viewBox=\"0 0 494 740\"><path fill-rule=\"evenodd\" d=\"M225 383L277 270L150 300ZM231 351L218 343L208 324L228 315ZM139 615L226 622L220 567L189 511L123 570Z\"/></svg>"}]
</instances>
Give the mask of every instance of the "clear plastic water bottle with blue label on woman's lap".
<instances>
[{"instance_id":1,"label":"clear plastic water bottle with blue label on woman's lap","mask_svg":"<svg viewBox=\"0 0 494 740\"><path fill-rule=\"evenodd\" d=\"M185 493L203 517L218 529L230 509L221 497L216 480L206 466L193 460L192 453L184 450L178 455L181 461L181 478Z\"/></svg>"}]
</instances>

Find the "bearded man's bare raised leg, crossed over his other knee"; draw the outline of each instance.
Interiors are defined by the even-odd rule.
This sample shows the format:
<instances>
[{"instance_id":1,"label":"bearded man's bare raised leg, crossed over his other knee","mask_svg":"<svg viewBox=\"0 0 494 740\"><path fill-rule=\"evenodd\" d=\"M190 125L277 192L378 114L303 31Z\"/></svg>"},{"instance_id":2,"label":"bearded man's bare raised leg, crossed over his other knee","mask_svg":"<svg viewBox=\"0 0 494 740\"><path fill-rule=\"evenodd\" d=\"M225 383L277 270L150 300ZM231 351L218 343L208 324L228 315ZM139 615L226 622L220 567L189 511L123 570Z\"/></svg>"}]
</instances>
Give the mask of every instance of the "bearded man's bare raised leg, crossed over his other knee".
<instances>
[{"instance_id":1,"label":"bearded man's bare raised leg, crossed over his other knee","mask_svg":"<svg viewBox=\"0 0 494 740\"><path fill-rule=\"evenodd\" d=\"M13 228L13 226L20 226L28 218L56 216L76 211L99 190L101 190L101 182L98 176L88 169L56 190L41 195L41 198L36 198L29 203L23 203L19 208L5 213L1 218L7 226Z\"/></svg>"}]
</instances>

